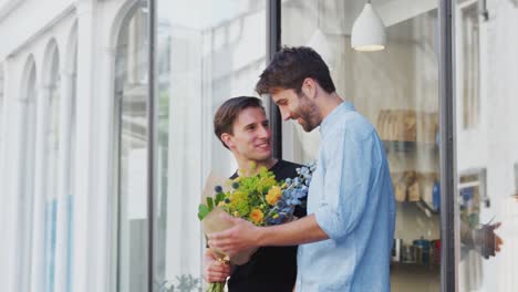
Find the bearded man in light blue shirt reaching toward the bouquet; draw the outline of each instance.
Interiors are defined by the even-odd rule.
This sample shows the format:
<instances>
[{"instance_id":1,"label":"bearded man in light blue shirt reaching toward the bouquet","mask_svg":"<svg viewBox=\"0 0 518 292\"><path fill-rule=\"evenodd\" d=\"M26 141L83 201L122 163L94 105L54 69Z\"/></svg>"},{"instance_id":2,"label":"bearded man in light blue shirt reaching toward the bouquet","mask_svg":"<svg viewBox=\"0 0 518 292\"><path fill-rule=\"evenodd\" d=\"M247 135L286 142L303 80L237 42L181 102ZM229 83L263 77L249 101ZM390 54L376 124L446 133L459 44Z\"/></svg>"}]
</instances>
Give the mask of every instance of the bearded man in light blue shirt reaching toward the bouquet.
<instances>
[{"instance_id":1,"label":"bearded man in light blue shirt reaching toward the bouquet","mask_svg":"<svg viewBox=\"0 0 518 292\"><path fill-rule=\"evenodd\" d=\"M297 291L390 291L394 194L385 150L374 127L335 92L329 69L310 48L283 48L256 86L283 119L305 132L320 126L308 216L290 223L235 226L208 234L209 246L235 254L260 246L301 244Z\"/></svg>"}]
</instances>

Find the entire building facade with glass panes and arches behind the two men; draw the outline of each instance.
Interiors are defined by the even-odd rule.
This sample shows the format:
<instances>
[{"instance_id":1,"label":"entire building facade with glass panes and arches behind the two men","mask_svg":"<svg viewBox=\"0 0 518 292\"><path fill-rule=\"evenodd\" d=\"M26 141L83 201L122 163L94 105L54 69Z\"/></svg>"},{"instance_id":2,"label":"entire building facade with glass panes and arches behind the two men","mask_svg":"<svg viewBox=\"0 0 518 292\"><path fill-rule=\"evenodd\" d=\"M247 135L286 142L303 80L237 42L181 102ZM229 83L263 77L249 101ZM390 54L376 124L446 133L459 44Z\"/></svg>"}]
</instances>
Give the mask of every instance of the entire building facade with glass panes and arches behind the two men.
<instances>
[{"instance_id":1,"label":"entire building facade with glass panes and arches behind the two men","mask_svg":"<svg viewBox=\"0 0 518 292\"><path fill-rule=\"evenodd\" d=\"M213 115L309 45L384 140L392 290L512 291L518 1L373 0L386 48L358 52L364 4L0 0L0 290L201 290L201 190L237 167ZM269 113L276 155L315 159Z\"/></svg>"}]
</instances>

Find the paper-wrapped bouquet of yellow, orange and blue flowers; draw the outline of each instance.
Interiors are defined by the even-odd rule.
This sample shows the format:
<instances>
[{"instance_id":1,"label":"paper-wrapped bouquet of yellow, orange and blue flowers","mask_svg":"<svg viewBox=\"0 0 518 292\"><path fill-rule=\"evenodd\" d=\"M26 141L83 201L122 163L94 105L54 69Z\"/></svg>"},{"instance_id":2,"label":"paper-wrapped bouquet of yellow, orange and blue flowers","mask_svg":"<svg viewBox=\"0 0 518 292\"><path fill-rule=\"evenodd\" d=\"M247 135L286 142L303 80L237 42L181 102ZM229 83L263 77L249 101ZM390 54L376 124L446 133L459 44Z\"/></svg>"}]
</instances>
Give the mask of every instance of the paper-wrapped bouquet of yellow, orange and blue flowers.
<instances>
[{"instance_id":1,"label":"paper-wrapped bouquet of yellow, orange and blue flowers","mask_svg":"<svg viewBox=\"0 0 518 292\"><path fill-rule=\"evenodd\" d=\"M251 171L255 167L250 167ZM222 231L230 223L218 215L226 212L242 218L256 226L280 225L294 218L294 207L302 204L301 198L308 195L314 164L297 168L298 176L278 181L273 173L260 168L256 175L240 174L234 180L216 185L214 195L207 196L205 204L198 208L198 218L208 232ZM213 250L219 261L234 264L246 263L256 249L244 251L229 259L225 253ZM222 291L225 283L211 283L208 291Z\"/></svg>"}]
</instances>

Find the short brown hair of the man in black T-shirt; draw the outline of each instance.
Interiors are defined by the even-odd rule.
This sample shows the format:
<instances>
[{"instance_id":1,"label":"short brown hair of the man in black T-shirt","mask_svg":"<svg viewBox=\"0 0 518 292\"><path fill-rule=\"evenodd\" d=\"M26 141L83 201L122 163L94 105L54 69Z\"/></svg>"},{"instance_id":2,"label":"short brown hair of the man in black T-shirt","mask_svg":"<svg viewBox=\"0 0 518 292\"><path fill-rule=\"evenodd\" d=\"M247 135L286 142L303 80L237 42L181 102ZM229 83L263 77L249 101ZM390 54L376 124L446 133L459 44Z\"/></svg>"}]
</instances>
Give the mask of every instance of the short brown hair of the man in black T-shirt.
<instances>
[{"instance_id":1,"label":"short brown hair of the man in black T-shirt","mask_svg":"<svg viewBox=\"0 0 518 292\"><path fill-rule=\"evenodd\" d=\"M227 100L214 115L214 134L226 148L228 146L221 140L221 135L224 133L234 134L234 121L239 113L248 107L258 107L265 111L261 100L252 96L239 96Z\"/></svg>"}]
</instances>

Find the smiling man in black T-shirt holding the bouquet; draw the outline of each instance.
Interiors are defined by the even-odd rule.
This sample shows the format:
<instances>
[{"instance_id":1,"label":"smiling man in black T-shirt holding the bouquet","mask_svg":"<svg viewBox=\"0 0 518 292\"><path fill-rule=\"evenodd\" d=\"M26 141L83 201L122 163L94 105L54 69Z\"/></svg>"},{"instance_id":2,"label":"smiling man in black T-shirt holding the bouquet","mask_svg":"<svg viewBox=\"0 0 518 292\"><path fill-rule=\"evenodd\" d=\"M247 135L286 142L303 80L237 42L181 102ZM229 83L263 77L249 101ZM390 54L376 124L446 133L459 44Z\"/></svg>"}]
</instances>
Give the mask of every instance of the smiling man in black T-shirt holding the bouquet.
<instances>
[{"instance_id":1,"label":"smiling man in black T-shirt holding the bouquet","mask_svg":"<svg viewBox=\"0 0 518 292\"><path fill-rule=\"evenodd\" d=\"M234 97L226 101L214 117L214 132L238 163L239 169L259 171L266 167L277 180L297 177L300 165L278 160L271 156L271 131L257 97ZM236 178L237 173L230 178ZM297 207L294 216L305 216L305 208ZM227 277L230 292L291 292L297 278L297 246L259 248L242 264L230 267L215 259L210 249L204 257L204 278L207 282L224 282Z\"/></svg>"}]
</instances>

